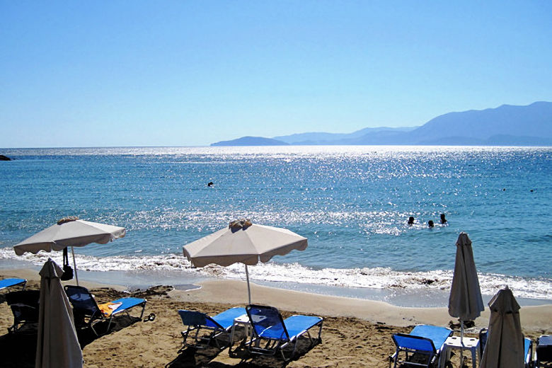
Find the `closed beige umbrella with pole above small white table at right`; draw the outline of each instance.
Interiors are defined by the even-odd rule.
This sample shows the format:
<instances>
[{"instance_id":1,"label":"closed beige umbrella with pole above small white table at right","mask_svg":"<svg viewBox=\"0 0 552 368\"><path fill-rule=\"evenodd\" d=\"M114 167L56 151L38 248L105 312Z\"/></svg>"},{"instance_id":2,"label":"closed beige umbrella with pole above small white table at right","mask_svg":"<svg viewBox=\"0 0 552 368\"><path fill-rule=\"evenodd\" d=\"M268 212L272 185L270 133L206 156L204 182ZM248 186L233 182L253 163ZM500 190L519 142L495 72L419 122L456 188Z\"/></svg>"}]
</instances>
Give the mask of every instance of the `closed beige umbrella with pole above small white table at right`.
<instances>
[{"instance_id":1,"label":"closed beige umbrella with pole above small white table at right","mask_svg":"<svg viewBox=\"0 0 552 368\"><path fill-rule=\"evenodd\" d=\"M460 319L460 341L464 339L464 321L481 316L483 299L473 261L471 240L466 233L460 233L456 241L456 262L449 296L449 315Z\"/></svg>"}]
</instances>

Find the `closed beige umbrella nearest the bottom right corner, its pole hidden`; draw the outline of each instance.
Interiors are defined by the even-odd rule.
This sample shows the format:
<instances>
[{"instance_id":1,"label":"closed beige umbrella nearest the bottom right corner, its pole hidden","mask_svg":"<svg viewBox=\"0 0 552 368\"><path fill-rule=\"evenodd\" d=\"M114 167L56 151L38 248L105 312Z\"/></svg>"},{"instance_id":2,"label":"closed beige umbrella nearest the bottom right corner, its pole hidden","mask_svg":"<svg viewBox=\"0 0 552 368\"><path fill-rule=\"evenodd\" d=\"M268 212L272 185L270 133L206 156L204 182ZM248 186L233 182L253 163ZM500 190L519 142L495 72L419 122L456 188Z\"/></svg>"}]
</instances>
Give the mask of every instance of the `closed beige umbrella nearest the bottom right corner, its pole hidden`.
<instances>
[{"instance_id":1,"label":"closed beige umbrella nearest the bottom right corner, its pole hidden","mask_svg":"<svg viewBox=\"0 0 552 368\"><path fill-rule=\"evenodd\" d=\"M519 321L519 304L506 287L490 299L487 343L480 368L523 368L524 337Z\"/></svg>"}]
</instances>

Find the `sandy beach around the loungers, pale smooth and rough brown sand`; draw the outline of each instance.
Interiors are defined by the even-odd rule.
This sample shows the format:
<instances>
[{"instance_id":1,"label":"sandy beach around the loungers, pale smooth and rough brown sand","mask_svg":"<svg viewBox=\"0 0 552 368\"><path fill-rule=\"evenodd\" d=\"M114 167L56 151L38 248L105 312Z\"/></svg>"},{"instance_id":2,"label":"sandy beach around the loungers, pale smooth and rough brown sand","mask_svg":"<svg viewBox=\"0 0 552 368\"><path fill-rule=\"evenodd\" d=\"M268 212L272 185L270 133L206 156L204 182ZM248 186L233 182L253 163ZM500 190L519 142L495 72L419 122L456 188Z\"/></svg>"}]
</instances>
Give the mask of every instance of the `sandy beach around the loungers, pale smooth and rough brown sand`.
<instances>
[{"instance_id":1,"label":"sandy beach around the loungers, pale smooth and rough brown sand","mask_svg":"<svg viewBox=\"0 0 552 368\"><path fill-rule=\"evenodd\" d=\"M0 277L28 279L28 289L38 289L38 273L30 270L2 270ZM115 281L115 280L114 280ZM68 282L74 284L74 280ZM129 296L117 285L81 282L91 289L99 302ZM34 367L35 338L31 334L8 334L13 315L0 294L0 350L2 367ZM110 332L100 337L88 331L79 333L85 367L388 367L394 351L391 335L410 331L418 323L448 326L451 318L446 308L403 308L380 301L328 297L252 285L252 301L276 306L282 315L311 314L324 318L322 342L314 347L299 345L299 357L288 364L274 357L241 360L229 357L228 350L181 350L183 325L178 309L217 314L231 306L243 306L246 284L240 281L203 282L200 289L175 290L156 286L132 293L147 299L144 316L153 313L154 321L142 321L139 311L131 318L116 319ZM524 306L520 311L526 337L534 339L552 331L552 305ZM477 318L468 330L475 336L487 326L489 311ZM456 322L456 321L454 321ZM457 357L453 357L453 363ZM457 364L456 364L457 365Z\"/></svg>"}]
</instances>

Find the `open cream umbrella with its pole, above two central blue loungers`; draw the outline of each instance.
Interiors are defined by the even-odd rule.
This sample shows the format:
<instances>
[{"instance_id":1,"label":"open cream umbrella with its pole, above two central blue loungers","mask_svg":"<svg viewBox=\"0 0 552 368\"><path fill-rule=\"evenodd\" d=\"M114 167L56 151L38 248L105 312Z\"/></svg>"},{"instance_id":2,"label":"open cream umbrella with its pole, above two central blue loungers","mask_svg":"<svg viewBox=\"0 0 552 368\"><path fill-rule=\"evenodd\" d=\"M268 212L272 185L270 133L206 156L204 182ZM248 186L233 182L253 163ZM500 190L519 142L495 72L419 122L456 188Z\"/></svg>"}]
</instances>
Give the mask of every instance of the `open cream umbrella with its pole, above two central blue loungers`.
<instances>
[{"instance_id":1,"label":"open cream umbrella with its pole, above two central blue loungers","mask_svg":"<svg viewBox=\"0 0 552 368\"><path fill-rule=\"evenodd\" d=\"M268 262L275 255L285 255L294 249L304 251L308 243L304 236L287 229L251 224L249 220L234 221L225 229L186 244L184 255L195 267L209 263L228 266L246 265L247 292L251 304L248 265Z\"/></svg>"}]
</instances>

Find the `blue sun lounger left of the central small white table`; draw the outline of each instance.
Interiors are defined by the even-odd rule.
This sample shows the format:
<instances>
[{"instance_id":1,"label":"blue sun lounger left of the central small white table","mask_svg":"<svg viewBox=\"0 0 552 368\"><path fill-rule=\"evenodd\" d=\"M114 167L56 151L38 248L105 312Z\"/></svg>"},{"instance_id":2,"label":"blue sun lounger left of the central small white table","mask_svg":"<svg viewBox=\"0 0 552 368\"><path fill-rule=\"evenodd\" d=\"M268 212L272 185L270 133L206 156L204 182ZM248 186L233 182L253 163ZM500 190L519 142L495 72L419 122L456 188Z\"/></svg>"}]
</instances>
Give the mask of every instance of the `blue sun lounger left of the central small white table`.
<instances>
[{"instance_id":1,"label":"blue sun lounger left of the central small white table","mask_svg":"<svg viewBox=\"0 0 552 368\"><path fill-rule=\"evenodd\" d=\"M188 326L188 329L182 331L180 334L184 339L184 346L188 345L186 341L188 340L188 335L190 332L195 331L193 334L194 346L196 348L202 349L214 342L219 349L224 349L225 347L231 345L232 341L228 340L223 345L219 343L219 336L228 334L234 324L234 319L239 316L246 314L245 308L234 307L227 309L226 311L217 314L216 316L208 316L205 313L199 311L187 311L185 309L179 309L178 315L182 319L184 326ZM208 335L200 335L201 330L209 331Z\"/></svg>"}]
</instances>

